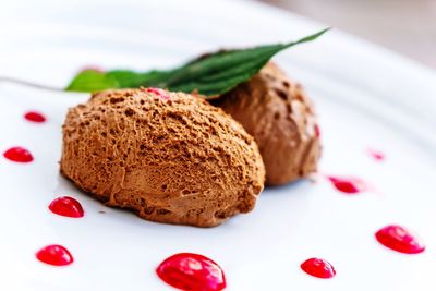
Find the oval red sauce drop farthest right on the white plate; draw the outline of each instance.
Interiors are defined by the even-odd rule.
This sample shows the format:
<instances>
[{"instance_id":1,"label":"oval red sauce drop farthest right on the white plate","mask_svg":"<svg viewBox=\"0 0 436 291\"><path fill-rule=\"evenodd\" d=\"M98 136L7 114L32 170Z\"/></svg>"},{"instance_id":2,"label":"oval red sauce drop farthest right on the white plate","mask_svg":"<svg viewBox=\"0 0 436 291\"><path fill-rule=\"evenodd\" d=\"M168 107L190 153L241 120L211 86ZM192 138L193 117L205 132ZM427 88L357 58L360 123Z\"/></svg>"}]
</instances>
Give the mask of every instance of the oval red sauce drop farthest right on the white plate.
<instances>
[{"instance_id":1,"label":"oval red sauce drop farthest right on the white plate","mask_svg":"<svg viewBox=\"0 0 436 291\"><path fill-rule=\"evenodd\" d=\"M404 254L419 254L424 252L425 245L415 235L400 226L384 227L375 233L379 243L390 250Z\"/></svg>"}]
</instances>

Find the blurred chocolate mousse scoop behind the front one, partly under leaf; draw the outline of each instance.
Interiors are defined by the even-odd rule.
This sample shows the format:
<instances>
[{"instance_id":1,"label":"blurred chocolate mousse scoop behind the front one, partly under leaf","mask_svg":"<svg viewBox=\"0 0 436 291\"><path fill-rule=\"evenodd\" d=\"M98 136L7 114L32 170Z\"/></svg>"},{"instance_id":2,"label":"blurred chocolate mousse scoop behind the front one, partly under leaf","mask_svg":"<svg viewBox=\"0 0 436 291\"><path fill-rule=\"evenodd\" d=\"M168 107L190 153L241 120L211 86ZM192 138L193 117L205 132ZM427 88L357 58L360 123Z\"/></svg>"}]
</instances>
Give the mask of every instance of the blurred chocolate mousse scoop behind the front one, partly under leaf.
<instances>
[{"instance_id":1,"label":"blurred chocolate mousse scoop behind the front one, partly under leaf","mask_svg":"<svg viewBox=\"0 0 436 291\"><path fill-rule=\"evenodd\" d=\"M320 143L313 104L276 64L268 63L213 104L254 136L267 184L284 184L316 171Z\"/></svg>"}]
</instances>

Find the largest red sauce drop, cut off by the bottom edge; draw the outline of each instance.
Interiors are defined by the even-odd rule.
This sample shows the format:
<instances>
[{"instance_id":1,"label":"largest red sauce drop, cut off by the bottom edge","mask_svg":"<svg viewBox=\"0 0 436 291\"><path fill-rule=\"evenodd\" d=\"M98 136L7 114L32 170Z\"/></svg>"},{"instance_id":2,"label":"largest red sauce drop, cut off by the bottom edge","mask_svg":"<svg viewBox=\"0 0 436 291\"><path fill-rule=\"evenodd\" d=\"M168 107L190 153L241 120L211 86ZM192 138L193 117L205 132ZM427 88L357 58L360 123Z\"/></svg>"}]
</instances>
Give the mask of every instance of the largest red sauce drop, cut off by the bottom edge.
<instances>
[{"instance_id":1,"label":"largest red sauce drop, cut off by the bottom edge","mask_svg":"<svg viewBox=\"0 0 436 291\"><path fill-rule=\"evenodd\" d=\"M225 274L218 264L197 254L170 256L156 272L165 282L181 290L217 291L226 288Z\"/></svg>"}]
</instances>

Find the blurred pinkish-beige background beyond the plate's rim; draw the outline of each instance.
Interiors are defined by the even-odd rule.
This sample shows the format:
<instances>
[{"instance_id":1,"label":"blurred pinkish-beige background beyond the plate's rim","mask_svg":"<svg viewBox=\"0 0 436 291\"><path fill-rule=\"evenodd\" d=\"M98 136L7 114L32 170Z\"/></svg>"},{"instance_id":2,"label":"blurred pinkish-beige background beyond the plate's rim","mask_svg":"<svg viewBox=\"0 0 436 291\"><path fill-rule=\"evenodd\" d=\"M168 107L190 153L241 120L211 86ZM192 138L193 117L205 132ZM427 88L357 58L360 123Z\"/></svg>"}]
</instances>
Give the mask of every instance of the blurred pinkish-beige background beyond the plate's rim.
<instances>
[{"instance_id":1,"label":"blurred pinkish-beige background beyond the plate's rim","mask_svg":"<svg viewBox=\"0 0 436 291\"><path fill-rule=\"evenodd\" d=\"M436 69L436 0L256 0L396 50Z\"/></svg>"}]
</instances>

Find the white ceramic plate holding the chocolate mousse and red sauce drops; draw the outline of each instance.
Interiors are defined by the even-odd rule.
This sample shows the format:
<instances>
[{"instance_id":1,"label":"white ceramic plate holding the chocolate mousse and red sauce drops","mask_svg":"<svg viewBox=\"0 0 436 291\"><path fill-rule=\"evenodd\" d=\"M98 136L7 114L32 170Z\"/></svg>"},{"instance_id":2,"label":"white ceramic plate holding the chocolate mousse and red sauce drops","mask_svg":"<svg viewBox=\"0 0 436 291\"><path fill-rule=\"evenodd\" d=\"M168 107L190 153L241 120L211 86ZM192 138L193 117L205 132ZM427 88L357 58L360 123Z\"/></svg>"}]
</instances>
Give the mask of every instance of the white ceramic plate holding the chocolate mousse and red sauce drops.
<instances>
[{"instance_id":1,"label":"white ceramic plate holding the chocolate mousse and red sauce drops","mask_svg":"<svg viewBox=\"0 0 436 291\"><path fill-rule=\"evenodd\" d=\"M0 75L62 87L84 65L170 66L218 47L294 39L324 25L249 1L9 1L0 11ZM218 262L227 290L435 290L436 76L409 60L331 32L276 61L316 102L320 171L362 178L374 190L348 196L325 179L268 189L255 210L213 229L153 223L107 208L59 175L61 124L87 99L0 83L0 151L20 145L28 165L0 158L1 290L172 290L156 266L178 252ZM48 121L23 119L27 110ZM386 153L376 162L367 147ZM60 195L80 199L83 219L51 214ZM99 211L104 210L105 214ZM374 232L413 229L427 248L402 255ZM65 245L71 266L36 260ZM313 256L331 280L300 269Z\"/></svg>"}]
</instances>

